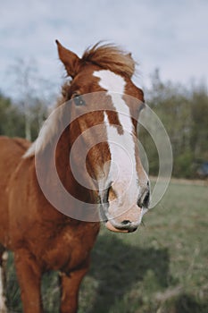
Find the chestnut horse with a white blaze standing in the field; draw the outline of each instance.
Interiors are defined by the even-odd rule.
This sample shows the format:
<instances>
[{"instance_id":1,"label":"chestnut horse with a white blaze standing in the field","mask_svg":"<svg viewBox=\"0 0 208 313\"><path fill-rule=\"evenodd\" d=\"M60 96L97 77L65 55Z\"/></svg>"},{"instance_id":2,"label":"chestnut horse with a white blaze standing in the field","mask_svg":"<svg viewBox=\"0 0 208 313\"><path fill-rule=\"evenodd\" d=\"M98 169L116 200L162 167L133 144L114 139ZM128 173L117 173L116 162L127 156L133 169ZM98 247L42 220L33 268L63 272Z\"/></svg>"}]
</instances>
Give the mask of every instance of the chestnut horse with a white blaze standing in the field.
<instances>
[{"instance_id":1,"label":"chestnut horse with a white blaze standing in the field","mask_svg":"<svg viewBox=\"0 0 208 313\"><path fill-rule=\"evenodd\" d=\"M132 233L150 201L137 145L145 99L132 81L131 54L98 43L79 57L56 44L67 72L59 113L32 144L0 138L0 278L4 252L12 250L25 313L43 312L41 277L50 270L60 274L60 312L77 312L101 221L109 231ZM63 118L69 123L62 125ZM62 199L64 192L71 197ZM6 312L1 283L0 297Z\"/></svg>"}]
</instances>

